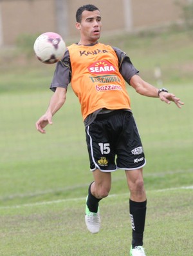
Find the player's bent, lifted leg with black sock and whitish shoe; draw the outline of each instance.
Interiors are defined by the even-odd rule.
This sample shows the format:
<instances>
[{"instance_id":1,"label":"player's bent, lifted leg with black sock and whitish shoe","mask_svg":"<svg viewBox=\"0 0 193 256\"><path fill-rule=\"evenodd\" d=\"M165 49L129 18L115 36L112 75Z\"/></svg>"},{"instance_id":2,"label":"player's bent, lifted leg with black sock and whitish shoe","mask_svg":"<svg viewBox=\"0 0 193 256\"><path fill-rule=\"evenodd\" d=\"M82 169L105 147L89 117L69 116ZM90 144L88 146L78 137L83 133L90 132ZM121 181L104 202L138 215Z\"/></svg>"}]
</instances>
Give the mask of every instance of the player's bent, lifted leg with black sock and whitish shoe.
<instances>
[{"instance_id":1,"label":"player's bent, lifted leg with black sock and whitish shoe","mask_svg":"<svg viewBox=\"0 0 193 256\"><path fill-rule=\"evenodd\" d=\"M111 189L111 173L101 172L96 169L93 172L94 180L88 189L86 199L86 215L85 221L87 229L91 233L98 233L100 230L100 213L98 203L107 197Z\"/></svg>"}]
</instances>

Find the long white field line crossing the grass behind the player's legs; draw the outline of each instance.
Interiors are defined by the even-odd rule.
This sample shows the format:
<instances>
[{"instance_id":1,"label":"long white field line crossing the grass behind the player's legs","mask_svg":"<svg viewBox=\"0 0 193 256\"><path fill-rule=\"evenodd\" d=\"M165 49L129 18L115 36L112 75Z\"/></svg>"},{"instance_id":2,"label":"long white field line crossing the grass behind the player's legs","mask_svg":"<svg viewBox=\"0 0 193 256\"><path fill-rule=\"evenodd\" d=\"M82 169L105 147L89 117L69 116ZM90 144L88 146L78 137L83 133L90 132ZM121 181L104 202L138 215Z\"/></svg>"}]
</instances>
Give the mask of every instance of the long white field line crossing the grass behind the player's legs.
<instances>
[{"instance_id":1,"label":"long white field line crossing the grass behind the player's legs","mask_svg":"<svg viewBox=\"0 0 193 256\"><path fill-rule=\"evenodd\" d=\"M193 190L193 185L192 186L181 186L177 188L164 188L162 190L149 190L148 192L166 192L169 190ZM129 195L129 193L121 193L121 194L113 194L109 195L108 197L122 197ZM44 201L44 202L34 202L30 204L18 204L15 206L0 206L0 210L2 209L14 209L14 208L24 208L24 207L34 207L34 206L42 206L46 204L58 204L60 202L69 202L69 201L85 201L85 197L77 197L77 198L72 198L72 199L60 199L60 200L53 200L53 201Z\"/></svg>"}]
</instances>

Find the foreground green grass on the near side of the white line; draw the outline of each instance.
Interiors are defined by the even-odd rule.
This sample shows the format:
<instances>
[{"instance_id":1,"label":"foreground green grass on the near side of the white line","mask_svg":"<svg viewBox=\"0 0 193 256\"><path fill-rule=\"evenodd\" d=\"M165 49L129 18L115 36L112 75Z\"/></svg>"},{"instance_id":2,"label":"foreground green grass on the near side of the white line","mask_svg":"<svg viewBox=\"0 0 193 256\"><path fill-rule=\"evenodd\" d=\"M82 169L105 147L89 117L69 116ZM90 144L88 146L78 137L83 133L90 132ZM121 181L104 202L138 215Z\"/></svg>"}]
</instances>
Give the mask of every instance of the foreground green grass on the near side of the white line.
<instances>
[{"instance_id":1,"label":"foreground green grass on the near side of the white line","mask_svg":"<svg viewBox=\"0 0 193 256\"><path fill-rule=\"evenodd\" d=\"M153 190L147 196L147 255L191 256L192 190ZM118 193L101 202L102 229L97 235L86 230L84 201L64 199L1 208L1 255L129 255L128 195Z\"/></svg>"}]
</instances>

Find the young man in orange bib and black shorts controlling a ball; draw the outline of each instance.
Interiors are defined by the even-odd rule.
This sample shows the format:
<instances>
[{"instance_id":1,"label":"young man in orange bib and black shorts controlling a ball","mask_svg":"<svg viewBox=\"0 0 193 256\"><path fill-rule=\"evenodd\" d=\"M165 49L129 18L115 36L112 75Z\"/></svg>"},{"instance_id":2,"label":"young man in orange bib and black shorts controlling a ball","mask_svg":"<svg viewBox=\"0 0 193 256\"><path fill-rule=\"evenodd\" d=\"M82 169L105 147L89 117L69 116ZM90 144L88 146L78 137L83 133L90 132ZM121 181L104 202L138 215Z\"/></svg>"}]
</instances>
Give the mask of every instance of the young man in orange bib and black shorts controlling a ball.
<instances>
[{"instance_id":1,"label":"young man in orange bib and black shorts controlling a ball","mask_svg":"<svg viewBox=\"0 0 193 256\"><path fill-rule=\"evenodd\" d=\"M168 104L173 101L179 108L183 103L166 89L159 90L143 81L129 57L120 49L98 43L102 23L96 6L81 6L76 18L80 41L71 44L62 61L57 63L50 87L54 94L36 127L45 133L44 127L52 124L53 115L65 103L68 84L71 83L81 104L90 169L94 177L86 199L87 229L91 233L100 230L98 203L109 194L111 172L123 169L130 191L133 229L130 255L145 256L142 247L147 204L142 175L145 156L125 81L138 94L158 97Z\"/></svg>"}]
</instances>

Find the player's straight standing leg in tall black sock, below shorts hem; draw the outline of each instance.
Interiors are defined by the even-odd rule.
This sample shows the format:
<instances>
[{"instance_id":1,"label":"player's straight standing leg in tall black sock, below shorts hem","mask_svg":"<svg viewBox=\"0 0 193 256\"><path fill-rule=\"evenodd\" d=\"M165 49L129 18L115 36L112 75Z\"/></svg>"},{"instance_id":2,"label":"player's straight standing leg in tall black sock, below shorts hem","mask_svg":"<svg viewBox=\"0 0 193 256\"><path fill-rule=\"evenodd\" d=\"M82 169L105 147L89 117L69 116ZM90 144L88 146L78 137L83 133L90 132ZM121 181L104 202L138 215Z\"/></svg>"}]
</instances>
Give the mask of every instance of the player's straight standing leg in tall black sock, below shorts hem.
<instances>
[{"instance_id":1,"label":"player's straight standing leg in tall black sock, below shorts hem","mask_svg":"<svg viewBox=\"0 0 193 256\"><path fill-rule=\"evenodd\" d=\"M137 248L137 246L141 248L141 246L143 246L143 231L145 228L147 198L143 184L142 171L142 168L138 170L125 171L127 177L127 184L131 193L129 206L131 224L133 229L132 248ZM134 253L131 255L134 255Z\"/></svg>"}]
</instances>

